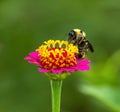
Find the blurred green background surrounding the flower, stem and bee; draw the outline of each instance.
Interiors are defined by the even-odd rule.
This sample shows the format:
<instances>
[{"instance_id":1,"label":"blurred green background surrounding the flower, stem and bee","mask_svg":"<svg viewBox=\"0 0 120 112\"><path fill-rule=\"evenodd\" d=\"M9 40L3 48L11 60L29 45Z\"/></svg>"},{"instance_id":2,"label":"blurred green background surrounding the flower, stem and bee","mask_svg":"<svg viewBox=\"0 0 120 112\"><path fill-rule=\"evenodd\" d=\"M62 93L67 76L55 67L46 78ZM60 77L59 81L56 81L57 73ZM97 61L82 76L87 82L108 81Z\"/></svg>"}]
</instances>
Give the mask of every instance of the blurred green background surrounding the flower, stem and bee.
<instances>
[{"instance_id":1,"label":"blurred green background surrounding the flower, stem and bee","mask_svg":"<svg viewBox=\"0 0 120 112\"><path fill-rule=\"evenodd\" d=\"M64 80L61 112L120 112L120 0L0 0L0 112L51 112L49 80L24 57L73 28L95 53Z\"/></svg>"}]
</instances>

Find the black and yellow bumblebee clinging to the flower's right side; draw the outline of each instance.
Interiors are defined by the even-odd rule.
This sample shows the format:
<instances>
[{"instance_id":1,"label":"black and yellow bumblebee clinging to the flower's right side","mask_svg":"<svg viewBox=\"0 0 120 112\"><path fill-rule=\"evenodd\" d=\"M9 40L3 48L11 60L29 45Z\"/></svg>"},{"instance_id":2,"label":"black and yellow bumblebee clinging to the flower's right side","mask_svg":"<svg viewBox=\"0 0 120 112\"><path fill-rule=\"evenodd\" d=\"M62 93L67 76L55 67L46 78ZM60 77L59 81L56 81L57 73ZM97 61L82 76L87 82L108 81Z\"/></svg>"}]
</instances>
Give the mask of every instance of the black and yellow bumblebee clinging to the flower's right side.
<instances>
[{"instance_id":1,"label":"black and yellow bumblebee clinging to the flower's right side","mask_svg":"<svg viewBox=\"0 0 120 112\"><path fill-rule=\"evenodd\" d=\"M80 29L73 29L68 33L68 42L78 47L77 58L84 58L88 49L94 52L92 44L86 39L86 34Z\"/></svg>"}]
</instances>

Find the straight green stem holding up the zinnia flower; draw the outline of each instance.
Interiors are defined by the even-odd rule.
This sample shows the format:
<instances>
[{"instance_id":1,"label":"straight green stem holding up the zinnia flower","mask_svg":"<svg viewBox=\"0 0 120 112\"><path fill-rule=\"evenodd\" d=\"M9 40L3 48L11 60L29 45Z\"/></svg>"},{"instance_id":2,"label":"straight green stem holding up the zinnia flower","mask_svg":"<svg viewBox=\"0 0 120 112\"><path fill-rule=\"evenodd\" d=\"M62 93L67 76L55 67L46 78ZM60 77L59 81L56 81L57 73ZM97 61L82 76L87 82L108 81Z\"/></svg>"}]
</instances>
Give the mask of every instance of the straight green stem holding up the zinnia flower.
<instances>
[{"instance_id":1,"label":"straight green stem holding up the zinnia flower","mask_svg":"<svg viewBox=\"0 0 120 112\"><path fill-rule=\"evenodd\" d=\"M52 112L60 112L62 80L51 80Z\"/></svg>"}]
</instances>

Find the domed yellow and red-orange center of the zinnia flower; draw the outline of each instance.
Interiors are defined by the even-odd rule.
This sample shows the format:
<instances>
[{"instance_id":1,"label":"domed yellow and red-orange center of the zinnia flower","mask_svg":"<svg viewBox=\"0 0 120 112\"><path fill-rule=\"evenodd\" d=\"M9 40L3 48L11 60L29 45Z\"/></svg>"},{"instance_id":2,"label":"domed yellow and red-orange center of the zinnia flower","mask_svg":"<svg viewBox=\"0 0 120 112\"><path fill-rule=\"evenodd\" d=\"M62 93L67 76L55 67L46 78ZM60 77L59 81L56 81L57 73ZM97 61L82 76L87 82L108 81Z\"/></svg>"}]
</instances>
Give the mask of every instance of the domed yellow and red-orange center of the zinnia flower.
<instances>
[{"instance_id":1,"label":"domed yellow and red-orange center of the zinnia flower","mask_svg":"<svg viewBox=\"0 0 120 112\"><path fill-rule=\"evenodd\" d=\"M67 41L48 40L36 51L39 53L40 65L47 70L69 68L76 65L78 48Z\"/></svg>"}]
</instances>

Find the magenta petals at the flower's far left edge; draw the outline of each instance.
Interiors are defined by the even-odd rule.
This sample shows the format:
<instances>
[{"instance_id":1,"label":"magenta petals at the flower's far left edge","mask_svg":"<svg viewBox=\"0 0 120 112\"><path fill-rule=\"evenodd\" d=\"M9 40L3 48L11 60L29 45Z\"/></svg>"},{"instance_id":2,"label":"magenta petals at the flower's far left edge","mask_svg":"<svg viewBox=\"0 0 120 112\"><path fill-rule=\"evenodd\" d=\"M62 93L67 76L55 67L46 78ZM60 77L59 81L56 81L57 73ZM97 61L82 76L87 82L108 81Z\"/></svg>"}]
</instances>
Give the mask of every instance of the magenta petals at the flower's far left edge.
<instances>
[{"instance_id":1,"label":"magenta petals at the flower's far left edge","mask_svg":"<svg viewBox=\"0 0 120 112\"><path fill-rule=\"evenodd\" d=\"M40 57L38 56L38 52L31 52L29 53L29 56L26 56L24 59L27 60L29 63L40 65Z\"/></svg>"}]
</instances>

